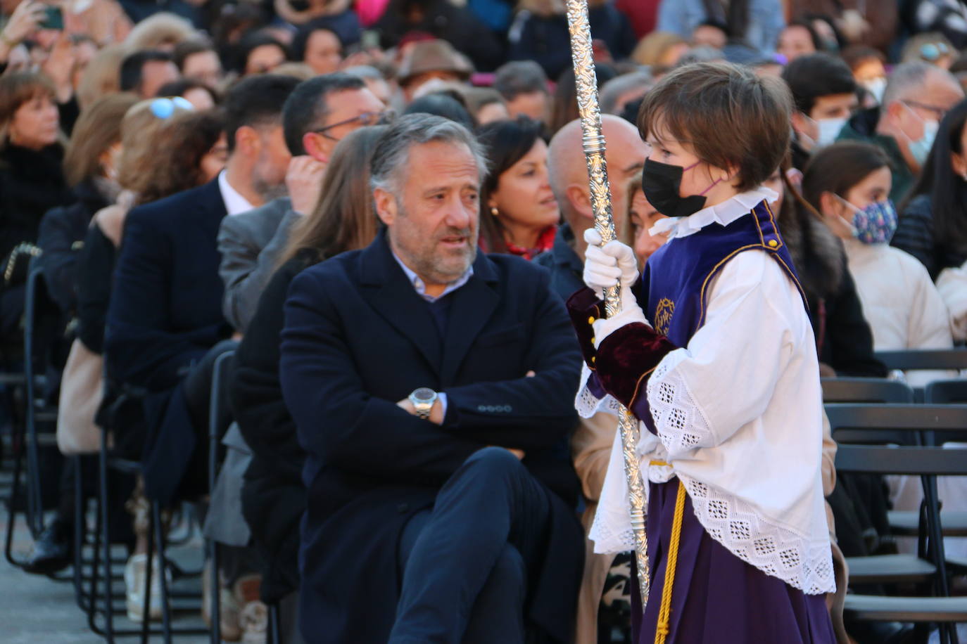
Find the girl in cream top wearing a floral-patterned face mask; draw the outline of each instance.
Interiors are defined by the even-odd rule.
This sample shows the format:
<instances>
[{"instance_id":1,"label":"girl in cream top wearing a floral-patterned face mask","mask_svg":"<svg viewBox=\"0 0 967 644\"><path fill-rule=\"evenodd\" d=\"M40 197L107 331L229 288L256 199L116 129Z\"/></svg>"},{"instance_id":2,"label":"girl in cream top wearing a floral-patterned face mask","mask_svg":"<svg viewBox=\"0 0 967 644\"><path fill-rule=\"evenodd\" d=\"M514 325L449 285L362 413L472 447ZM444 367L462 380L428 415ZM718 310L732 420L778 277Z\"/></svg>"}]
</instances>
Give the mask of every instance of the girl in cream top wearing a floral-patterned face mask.
<instances>
[{"instance_id":1,"label":"girl in cream top wearing a floral-patterned face mask","mask_svg":"<svg viewBox=\"0 0 967 644\"><path fill-rule=\"evenodd\" d=\"M888 245L896 210L888 195L890 160L865 143L836 143L814 154L803 196L841 240L875 350L950 349L947 307L926 269ZM915 384L946 373L915 372Z\"/></svg>"}]
</instances>

